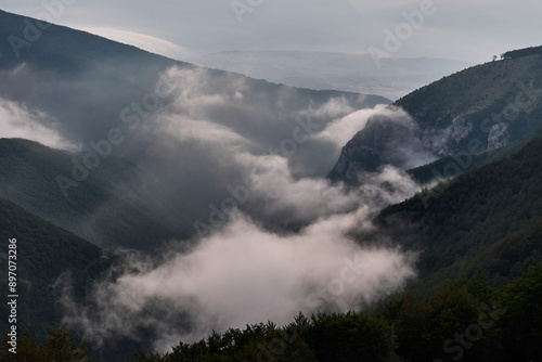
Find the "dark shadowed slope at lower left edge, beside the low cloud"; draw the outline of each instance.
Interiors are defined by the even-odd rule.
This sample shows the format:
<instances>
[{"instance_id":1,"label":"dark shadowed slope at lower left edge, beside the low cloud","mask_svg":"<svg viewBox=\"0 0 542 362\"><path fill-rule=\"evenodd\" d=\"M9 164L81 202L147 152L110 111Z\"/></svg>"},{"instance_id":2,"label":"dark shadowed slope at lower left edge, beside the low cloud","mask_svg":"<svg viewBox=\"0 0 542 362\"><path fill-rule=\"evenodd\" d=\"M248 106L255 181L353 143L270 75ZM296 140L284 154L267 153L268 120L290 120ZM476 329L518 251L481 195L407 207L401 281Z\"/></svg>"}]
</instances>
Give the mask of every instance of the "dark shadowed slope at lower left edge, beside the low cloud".
<instances>
[{"instance_id":1,"label":"dark shadowed slope at lower left edge, beside the low cloud","mask_svg":"<svg viewBox=\"0 0 542 362\"><path fill-rule=\"evenodd\" d=\"M0 199L0 225L2 281L8 281L9 240L16 240L16 325L41 338L46 327L62 320L59 299L64 288L73 287L74 296L82 298L86 287L107 270L113 259L91 243L4 199ZM3 296L13 294L7 282L0 289ZM0 312L5 316L0 329L8 331L10 312L5 302Z\"/></svg>"}]
</instances>

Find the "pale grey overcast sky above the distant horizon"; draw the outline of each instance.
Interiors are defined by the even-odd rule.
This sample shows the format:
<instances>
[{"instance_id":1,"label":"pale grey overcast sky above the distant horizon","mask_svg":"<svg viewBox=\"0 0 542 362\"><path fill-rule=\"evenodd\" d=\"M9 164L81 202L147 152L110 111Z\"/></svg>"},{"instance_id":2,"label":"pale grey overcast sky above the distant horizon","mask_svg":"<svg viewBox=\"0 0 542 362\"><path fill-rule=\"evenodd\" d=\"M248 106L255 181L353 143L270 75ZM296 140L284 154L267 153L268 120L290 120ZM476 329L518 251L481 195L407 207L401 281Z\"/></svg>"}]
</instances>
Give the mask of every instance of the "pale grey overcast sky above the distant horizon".
<instances>
[{"instance_id":1,"label":"pale grey overcast sky above the distant horizon","mask_svg":"<svg viewBox=\"0 0 542 362\"><path fill-rule=\"evenodd\" d=\"M64 11L44 7L59 1ZM0 0L0 8L49 12L56 24L188 61L229 50L360 54L373 47L396 57L487 62L542 42L540 0ZM423 20L406 25L404 14Z\"/></svg>"}]
</instances>

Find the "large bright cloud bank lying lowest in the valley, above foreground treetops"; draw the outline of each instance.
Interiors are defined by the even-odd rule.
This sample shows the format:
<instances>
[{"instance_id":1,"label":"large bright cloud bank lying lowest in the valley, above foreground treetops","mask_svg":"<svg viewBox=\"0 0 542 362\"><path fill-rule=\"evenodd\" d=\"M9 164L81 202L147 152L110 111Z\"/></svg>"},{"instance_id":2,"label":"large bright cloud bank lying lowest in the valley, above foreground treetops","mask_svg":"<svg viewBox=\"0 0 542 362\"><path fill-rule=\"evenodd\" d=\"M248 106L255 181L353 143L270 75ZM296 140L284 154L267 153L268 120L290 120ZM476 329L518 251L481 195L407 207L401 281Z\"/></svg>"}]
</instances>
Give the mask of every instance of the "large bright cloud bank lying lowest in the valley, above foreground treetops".
<instances>
[{"instance_id":1,"label":"large bright cloud bank lying lowest in the valley, above foreground treetops","mask_svg":"<svg viewBox=\"0 0 542 362\"><path fill-rule=\"evenodd\" d=\"M165 351L179 340L247 323L289 322L299 311L341 310L371 302L414 275L412 257L398 249L360 247L346 236L366 218L365 207L319 220L297 234L267 232L241 214L188 253L170 253L155 267L143 259L94 286L88 306L66 295L64 319L101 344L137 339L147 327ZM128 269L128 268L127 268Z\"/></svg>"}]
</instances>

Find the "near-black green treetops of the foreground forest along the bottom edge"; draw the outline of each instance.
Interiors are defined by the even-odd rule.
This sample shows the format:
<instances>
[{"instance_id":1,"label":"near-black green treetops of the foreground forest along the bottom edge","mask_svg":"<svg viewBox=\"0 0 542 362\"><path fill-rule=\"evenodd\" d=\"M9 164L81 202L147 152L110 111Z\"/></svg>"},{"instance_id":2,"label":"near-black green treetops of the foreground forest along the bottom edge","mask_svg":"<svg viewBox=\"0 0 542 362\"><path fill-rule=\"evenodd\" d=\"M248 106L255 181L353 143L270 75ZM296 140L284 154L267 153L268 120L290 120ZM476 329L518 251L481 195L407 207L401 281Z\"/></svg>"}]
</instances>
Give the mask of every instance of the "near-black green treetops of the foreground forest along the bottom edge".
<instances>
[{"instance_id":1,"label":"near-black green treetops of the foreground forest along the bottom edge","mask_svg":"<svg viewBox=\"0 0 542 362\"><path fill-rule=\"evenodd\" d=\"M367 311L299 313L285 326L267 322L212 332L164 354L134 352L131 361L540 361L541 323L542 262L533 262L500 288L479 271L427 298L400 295ZM42 344L23 334L16 355L8 352L4 334L2 361L90 361L86 344L65 326L48 332Z\"/></svg>"}]
</instances>

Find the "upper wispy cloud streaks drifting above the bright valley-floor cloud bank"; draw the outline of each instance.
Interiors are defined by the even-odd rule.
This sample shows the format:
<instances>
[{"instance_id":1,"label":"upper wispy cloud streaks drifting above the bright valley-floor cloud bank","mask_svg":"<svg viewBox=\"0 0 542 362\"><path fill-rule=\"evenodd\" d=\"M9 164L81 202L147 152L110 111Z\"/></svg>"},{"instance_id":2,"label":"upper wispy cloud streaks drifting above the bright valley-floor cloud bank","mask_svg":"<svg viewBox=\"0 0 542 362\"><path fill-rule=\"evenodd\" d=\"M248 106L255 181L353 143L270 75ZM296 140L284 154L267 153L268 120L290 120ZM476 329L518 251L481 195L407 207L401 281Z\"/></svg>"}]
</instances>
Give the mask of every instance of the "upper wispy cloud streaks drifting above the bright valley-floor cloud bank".
<instances>
[{"instance_id":1,"label":"upper wispy cloud streaks drifting above the bright valley-floor cloud bank","mask_svg":"<svg viewBox=\"0 0 542 362\"><path fill-rule=\"evenodd\" d=\"M345 99L332 98L318 106L310 103L288 116L285 111L272 108L273 104L251 107L240 98L238 93L255 93L249 91L245 78L216 80L209 72L176 67L167 70L166 77L176 85L171 101L144 131L160 140L155 143L155 154L171 157L172 164L179 165L185 157L182 155L198 155L196 163L179 167L184 174L198 176L194 179L198 185L203 185L202 179L212 180L212 192L224 192L221 199L210 204L209 219L215 218L211 210L218 209L218 219L224 221L228 209L234 206L270 229L298 230L320 218L351 212L360 201L373 208L382 207L415 192L411 186L400 197L391 197L377 192L384 181L347 190L322 178L337 161L340 147L367 119L375 115L409 118L402 109L376 106L354 111ZM285 87L276 103L292 98L288 92L293 91ZM236 119L236 113L232 116L232 109L243 114L244 119ZM325 171L315 172L314 165L322 165ZM382 174L389 172L385 169ZM376 182L382 174L372 180ZM184 178L183 182L190 181ZM395 188L402 190L411 183L402 176ZM373 195L372 199L367 199L367 194ZM216 224L216 220L199 221L210 228Z\"/></svg>"}]
</instances>

